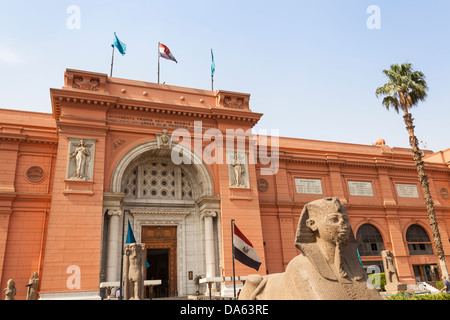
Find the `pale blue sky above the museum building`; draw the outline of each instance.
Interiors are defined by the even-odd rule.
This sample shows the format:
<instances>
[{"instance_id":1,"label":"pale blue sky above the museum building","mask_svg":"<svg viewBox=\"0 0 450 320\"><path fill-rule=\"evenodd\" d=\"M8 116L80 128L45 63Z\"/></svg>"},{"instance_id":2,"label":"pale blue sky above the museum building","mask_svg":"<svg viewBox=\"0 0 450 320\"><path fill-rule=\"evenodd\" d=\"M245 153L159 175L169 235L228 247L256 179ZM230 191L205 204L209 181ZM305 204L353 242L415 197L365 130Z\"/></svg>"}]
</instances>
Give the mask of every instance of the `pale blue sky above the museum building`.
<instances>
[{"instance_id":1,"label":"pale blue sky above the museum building","mask_svg":"<svg viewBox=\"0 0 450 320\"><path fill-rule=\"evenodd\" d=\"M0 0L0 108L51 113L50 88L66 68L251 94L263 113L255 132L282 137L409 147L401 114L377 87L383 69L412 63L429 86L411 110L420 147L450 148L450 1L432 0ZM0 111L1 116L1 111ZM278 131L276 131L278 130Z\"/></svg>"}]
</instances>

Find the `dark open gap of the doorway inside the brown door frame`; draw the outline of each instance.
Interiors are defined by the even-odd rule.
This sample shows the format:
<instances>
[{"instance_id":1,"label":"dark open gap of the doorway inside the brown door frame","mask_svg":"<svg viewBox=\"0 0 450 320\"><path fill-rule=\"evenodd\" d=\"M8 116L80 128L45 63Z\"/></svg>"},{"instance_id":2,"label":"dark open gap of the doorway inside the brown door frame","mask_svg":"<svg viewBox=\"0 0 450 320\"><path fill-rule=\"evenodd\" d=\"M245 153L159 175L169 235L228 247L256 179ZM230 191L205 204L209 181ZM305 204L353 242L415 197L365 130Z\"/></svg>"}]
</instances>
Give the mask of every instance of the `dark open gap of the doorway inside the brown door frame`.
<instances>
[{"instance_id":1,"label":"dark open gap of the doorway inside the brown door frame","mask_svg":"<svg viewBox=\"0 0 450 320\"><path fill-rule=\"evenodd\" d=\"M169 296L169 249L147 249L147 280L161 280L160 286L153 287L153 292L147 293L152 298Z\"/></svg>"}]
</instances>

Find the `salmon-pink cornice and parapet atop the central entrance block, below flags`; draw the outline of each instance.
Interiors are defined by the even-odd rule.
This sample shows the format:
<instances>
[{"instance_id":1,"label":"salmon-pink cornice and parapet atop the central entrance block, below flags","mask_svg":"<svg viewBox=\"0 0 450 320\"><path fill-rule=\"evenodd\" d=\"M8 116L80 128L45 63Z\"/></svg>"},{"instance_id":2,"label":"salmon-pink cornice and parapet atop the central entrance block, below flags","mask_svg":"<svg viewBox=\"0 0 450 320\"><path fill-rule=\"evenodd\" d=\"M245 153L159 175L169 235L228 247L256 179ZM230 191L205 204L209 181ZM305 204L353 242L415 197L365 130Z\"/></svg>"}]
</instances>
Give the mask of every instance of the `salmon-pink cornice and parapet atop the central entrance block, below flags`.
<instances>
[{"instance_id":1,"label":"salmon-pink cornice and parapet atop the central entrance block, below flags","mask_svg":"<svg viewBox=\"0 0 450 320\"><path fill-rule=\"evenodd\" d=\"M50 94L56 120L60 120L62 106L74 104L77 107L106 108L108 111L126 110L241 121L247 127L249 124L255 125L262 116L250 110L250 95L246 93L160 85L73 69L65 72L65 86L62 89L50 89ZM160 97L166 94L171 95L167 100L170 102L160 101Z\"/></svg>"}]
</instances>

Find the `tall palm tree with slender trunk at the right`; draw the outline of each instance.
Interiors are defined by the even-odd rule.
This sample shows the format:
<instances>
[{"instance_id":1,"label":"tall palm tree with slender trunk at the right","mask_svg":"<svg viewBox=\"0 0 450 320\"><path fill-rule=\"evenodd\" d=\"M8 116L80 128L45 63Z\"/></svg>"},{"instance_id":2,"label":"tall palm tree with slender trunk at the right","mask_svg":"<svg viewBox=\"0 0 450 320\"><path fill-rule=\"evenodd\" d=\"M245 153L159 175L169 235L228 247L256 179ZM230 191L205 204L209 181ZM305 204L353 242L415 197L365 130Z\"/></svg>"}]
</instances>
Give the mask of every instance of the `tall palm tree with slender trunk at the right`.
<instances>
[{"instance_id":1,"label":"tall palm tree with slender trunk at the right","mask_svg":"<svg viewBox=\"0 0 450 320\"><path fill-rule=\"evenodd\" d=\"M430 219L436 255L439 259L442 274L448 279L447 264L445 262L441 235L439 233L436 214L434 212L434 203L428 185L427 173L422 161L422 152L419 149L419 141L414 135L413 118L411 113L409 113L409 110L412 107L416 106L420 101L424 101L427 96L428 87L425 76L420 71L414 71L410 63L403 63L402 65L393 64L390 69L383 70L383 73L389 78L389 82L382 87L377 88L376 96L377 98L380 95L385 96L382 104L387 110L394 108L397 113L399 113L400 109L404 112L403 119L405 120L406 130L408 130L409 133L409 144L412 147L414 162L416 163L419 181L425 197L425 206Z\"/></svg>"}]
</instances>

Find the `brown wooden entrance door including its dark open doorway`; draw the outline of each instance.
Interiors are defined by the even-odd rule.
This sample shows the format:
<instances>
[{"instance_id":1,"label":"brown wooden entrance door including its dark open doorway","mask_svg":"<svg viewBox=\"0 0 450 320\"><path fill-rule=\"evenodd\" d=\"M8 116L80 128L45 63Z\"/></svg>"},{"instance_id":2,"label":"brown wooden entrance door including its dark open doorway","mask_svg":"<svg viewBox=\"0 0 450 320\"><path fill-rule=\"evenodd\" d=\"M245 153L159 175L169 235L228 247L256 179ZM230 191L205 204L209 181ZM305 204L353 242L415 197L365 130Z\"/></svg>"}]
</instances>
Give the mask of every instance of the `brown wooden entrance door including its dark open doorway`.
<instances>
[{"instance_id":1,"label":"brown wooden entrance door including its dark open doorway","mask_svg":"<svg viewBox=\"0 0 450 320\"><path fill-rule=\"evenodd\" d=\"M146 280L161 280L154 292L161 296L175 296L177 291L177 227L142 226L141 241L147 249Z\"/></svg>"}]
</instances>

